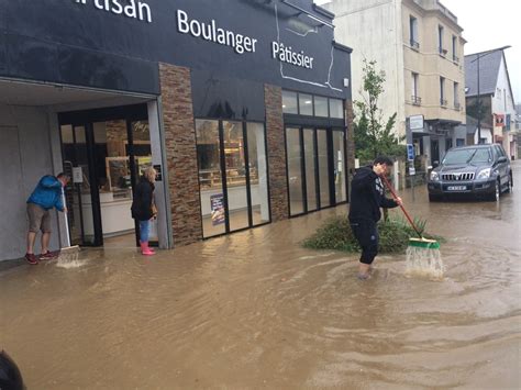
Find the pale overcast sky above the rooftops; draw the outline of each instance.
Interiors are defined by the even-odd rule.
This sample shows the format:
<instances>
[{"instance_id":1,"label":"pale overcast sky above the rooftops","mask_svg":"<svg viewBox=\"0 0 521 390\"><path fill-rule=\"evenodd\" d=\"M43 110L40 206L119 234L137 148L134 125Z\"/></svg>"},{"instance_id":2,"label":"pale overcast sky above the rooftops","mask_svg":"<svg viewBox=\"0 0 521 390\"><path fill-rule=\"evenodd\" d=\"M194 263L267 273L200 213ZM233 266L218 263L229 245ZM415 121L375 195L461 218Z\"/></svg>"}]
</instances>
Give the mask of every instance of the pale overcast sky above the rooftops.
<instances>
[{"instance_id":1,"label":"pale overcast sky above the rooftops","mask_svg":"<svg viewBox=\"0 0 521 390\"><path fill-rule=\"evenodd\" d=\"M317 4L329 0L314 0ZM350 1L350 0L344 0ZM463 29L465 54L505 51L516 103L521 104L521 0L441 0ZM350 46L350 43L345 43Z\"/></svg>"}]
</instances>

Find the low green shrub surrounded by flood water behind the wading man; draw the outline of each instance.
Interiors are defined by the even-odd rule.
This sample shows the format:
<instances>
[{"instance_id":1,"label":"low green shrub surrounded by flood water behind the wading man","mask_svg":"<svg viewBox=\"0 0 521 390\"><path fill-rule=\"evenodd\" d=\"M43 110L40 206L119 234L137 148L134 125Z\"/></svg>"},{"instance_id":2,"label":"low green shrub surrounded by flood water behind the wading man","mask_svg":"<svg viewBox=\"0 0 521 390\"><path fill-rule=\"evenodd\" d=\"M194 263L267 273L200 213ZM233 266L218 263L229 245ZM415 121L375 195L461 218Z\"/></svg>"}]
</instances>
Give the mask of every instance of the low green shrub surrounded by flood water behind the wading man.
<instances>
[{"instance_id":1,"label":"low green shrub surrounded by flood water behind the wading man","mask_svg":"<svg viewBox=\"0 0 521 390\"><path fill-rule=\"evenodd\" d=\"M440 239L424 232L425 221L414 220L420 233L425 238ZM398 253L407 248L410 237L418 237L408 221L403 219L389 219L378 223L380 253ZM345 216L333 216L328 219L322 226L302 245L311 249L335 249L344 252L359 252L361 248L351 230L350 221Z\"/></svg>"}]
</instances>

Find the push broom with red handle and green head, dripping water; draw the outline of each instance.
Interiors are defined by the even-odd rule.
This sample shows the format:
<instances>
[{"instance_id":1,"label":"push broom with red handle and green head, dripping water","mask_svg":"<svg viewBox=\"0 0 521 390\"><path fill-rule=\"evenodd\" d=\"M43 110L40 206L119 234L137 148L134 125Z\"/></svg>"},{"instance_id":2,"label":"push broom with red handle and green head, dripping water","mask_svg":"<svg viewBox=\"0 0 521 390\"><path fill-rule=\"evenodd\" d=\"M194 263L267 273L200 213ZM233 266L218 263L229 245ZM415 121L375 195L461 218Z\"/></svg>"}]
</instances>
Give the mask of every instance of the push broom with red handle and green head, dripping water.
<instances>
[{"instance_id":1,"label":"push broom with red handle and green head, dripping water","mask_svg":"<svg viewBox=\"0 0 521 390\"><path fill-rule=\"evenodd\" d=\"M387 188L396 200L398 198L395 189L390 185L389 180L381 176L381 179L386 183ZM440 253L440 243L435 239L424 238L420 230L417 227L406 208L400 204L401 211L406 215L407 220L411 224L414 232L418 234L417 237L409 238L409 245L407 247L407 270L409 272L420 272L433 275L436 278L443 277L443 263Z\"/></svg>"}]
</instances>

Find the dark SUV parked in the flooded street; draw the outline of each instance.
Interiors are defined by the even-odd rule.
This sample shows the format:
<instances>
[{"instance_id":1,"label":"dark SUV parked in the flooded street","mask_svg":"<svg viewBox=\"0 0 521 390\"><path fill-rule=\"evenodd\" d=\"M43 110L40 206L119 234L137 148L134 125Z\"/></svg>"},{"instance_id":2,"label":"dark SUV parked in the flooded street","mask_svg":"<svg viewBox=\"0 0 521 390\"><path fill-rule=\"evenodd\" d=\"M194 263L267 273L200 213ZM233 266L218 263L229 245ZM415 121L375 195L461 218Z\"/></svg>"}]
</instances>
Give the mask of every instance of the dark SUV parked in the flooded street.
<instances>
[{"instance_id":1,"label":"dark SUV parked in the flooded street","mask_svg":"<svg viewBox=\"0 0 521 390\"><path fill-rule=\"evenodd\" d=\"M510 159L499 144L453 147L428 178L430 201L451 194L497 201L512 188Z\"/></svg>"}]
</instances>

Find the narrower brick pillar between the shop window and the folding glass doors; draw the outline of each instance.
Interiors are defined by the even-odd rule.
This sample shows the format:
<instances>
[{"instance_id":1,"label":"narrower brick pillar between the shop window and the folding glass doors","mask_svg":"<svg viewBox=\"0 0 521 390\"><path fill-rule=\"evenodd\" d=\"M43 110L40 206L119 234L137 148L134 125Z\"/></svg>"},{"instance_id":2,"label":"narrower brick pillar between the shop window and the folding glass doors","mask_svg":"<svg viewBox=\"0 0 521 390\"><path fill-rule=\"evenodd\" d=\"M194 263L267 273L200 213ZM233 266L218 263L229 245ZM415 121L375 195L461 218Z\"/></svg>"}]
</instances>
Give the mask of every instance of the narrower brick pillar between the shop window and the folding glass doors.
<instances>
[{"instance_id":1,"label":"narrower brick pillar between the shop window and the folding glass doors","mask_svg":"<svg viewBox=\"0 0 521 390\"><path fill-rule=\"evenodd\" d=\"M284 142L282 89L264 86L266 108L266 137L269 165L269 200L271 221L286 220L289 214L288 185L286 180L286 151Z\"/></svg>"}]
</instances>

